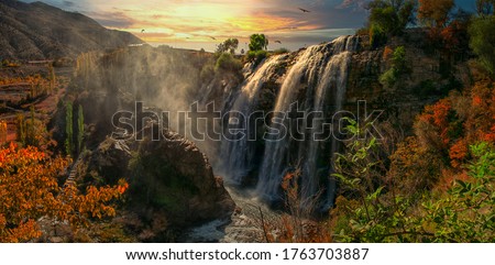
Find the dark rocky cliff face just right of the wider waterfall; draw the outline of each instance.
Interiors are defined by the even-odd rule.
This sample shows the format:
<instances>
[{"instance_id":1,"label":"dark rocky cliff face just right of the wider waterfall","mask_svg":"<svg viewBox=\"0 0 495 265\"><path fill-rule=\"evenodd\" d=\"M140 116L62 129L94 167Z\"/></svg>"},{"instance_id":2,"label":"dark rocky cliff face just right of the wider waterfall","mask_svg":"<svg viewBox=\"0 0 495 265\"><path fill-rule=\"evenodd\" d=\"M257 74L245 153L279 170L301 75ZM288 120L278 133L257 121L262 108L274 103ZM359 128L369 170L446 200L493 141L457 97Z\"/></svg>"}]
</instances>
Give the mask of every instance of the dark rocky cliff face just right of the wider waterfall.
<instances>
[{"instance_id":1,"label":"dark rocky cliff face just right of the wider waterfall","mask_svg":"<svg viewBox=\"0 0 495 265\"><path fill-rule=\"evenodd\" d=\"M352 57L345 109L356 111L358 101L365 100L369 111L384 110L383 120L410 134L415 118L425 106L469 85L468 64L453 62L450 73L441 73L440 57L428 52L427 40L425 31L409 30L405 36L391 40L386 46L371 49L367 37L362 37L359 52ZM380 76L392 66L392 56L385 51L394 51L398 46L406 49L408 73L400 76L396 85L386 87L380 82Z\"/></svg>"}]
</instances>

